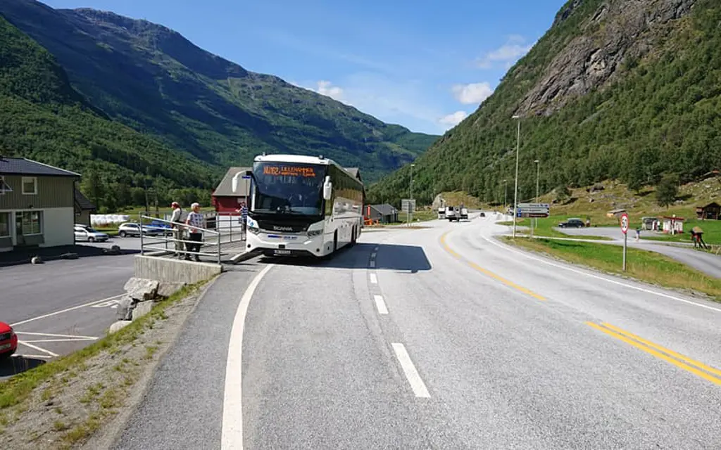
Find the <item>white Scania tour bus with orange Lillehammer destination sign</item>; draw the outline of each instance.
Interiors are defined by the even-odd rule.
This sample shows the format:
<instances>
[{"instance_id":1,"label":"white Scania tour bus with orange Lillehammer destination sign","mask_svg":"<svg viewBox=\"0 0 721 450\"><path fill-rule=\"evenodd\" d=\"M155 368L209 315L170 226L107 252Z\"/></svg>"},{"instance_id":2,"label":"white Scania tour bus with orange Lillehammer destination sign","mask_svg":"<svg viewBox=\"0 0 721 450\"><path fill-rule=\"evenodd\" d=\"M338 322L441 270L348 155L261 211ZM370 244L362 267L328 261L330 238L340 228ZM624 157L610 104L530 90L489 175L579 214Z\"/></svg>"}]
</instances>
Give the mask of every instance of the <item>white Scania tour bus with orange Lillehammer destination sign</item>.
<instances>
[{"instance_id":1,"label":"white Scania tour bus with orange Lillehammer destination sign","mask_svg":"<svg viewBox=\"0 0 721 450\"><path fill-rule=\"evenodd\" d=\"M247 251L327 256L353 245L363 226L363 183L323 156L256 156L250 178Z\"/></svg>"}]
</instances>

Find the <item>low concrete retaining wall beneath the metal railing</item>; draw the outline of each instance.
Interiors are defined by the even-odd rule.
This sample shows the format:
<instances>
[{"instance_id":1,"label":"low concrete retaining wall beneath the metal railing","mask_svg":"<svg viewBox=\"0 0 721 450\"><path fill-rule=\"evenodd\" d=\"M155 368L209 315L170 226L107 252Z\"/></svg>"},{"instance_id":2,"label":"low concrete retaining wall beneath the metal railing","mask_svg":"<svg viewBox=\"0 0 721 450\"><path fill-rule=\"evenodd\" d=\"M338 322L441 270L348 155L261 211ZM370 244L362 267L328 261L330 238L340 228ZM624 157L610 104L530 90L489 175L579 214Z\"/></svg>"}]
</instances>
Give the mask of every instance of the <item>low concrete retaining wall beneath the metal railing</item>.
<instances>
[{"instance_id":1,"label":"low concrete retaining wall beneath the metal railing","mask_svg":"<svg viewBox=\"0 0 721 450\"><path fill-rule=\"evenodd\" d=\"M220 264L142 255L136 256L133 264L137 278L154 279L159 282L194 284L211 279L223 271L223 266Z\"/></svg>"}]
</instances>

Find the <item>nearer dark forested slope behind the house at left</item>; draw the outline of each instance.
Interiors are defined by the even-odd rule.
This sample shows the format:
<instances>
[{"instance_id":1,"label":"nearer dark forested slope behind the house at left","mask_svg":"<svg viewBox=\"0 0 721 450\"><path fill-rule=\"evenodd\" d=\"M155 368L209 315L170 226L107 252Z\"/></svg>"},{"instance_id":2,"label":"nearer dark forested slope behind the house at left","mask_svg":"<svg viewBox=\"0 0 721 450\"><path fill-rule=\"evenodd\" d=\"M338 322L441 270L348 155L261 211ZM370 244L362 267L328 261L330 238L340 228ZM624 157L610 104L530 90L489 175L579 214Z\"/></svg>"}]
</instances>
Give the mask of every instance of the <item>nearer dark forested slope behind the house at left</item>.
<instances>
[{"instance_id":1,"label":"nearer dark forested slope behind the house at left","mask_svg":"<svg viewBox=\"0 0 721 450\"><path fill-rule=\"evenodd\" d=\"M110 207L131 202L133 186L149 182L164 192L195 186L187 191L200 198L218 176L207 163L108 119L70 86L47 50L2 17L0 155L84 173L93 184L87 192Z\"/></svg>"}]
</instances>

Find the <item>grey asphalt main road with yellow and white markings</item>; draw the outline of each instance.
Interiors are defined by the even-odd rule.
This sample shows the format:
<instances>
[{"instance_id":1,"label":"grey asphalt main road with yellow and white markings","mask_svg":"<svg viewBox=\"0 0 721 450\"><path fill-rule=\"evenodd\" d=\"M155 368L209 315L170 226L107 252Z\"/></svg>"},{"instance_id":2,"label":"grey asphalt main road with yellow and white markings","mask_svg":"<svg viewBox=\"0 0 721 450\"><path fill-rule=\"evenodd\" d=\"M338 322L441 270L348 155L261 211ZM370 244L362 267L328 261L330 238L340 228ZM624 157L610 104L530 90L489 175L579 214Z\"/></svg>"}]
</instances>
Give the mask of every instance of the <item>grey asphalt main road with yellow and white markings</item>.
<instances>
[{"instance_id":1,"label":"grey asphalt main road with yellow and white markings","mask_svg":"<svg viewBox=\"0 0 721 450\"><path fill-rule=\"evenodd\" d=\"M492 221L237 266L115 448L721 447L721 305L505 247Z\"/></svg>"}]
</instances>

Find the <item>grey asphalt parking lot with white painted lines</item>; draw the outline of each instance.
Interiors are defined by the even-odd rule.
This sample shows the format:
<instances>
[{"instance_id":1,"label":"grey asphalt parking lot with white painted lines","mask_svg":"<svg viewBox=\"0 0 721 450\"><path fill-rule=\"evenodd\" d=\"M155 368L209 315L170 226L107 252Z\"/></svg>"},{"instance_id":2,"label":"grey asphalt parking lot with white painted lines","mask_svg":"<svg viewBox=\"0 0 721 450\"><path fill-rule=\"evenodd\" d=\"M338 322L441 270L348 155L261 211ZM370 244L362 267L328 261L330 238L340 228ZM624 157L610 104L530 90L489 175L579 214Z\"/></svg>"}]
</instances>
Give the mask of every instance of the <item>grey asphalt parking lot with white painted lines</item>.
<instances>
[{"instance_id":1,"label":"grey asphalt parking lot with white painted lines","mask_svg":"<svg viewBox=\"0 0 721 450\"><path fill-rule=\"evenodd\" d=\"M139 248L137 239L95 243ZM119 242L118 242L119 241ZM137 240L139 241L139 240ZM86 244L87 245L87 244ZM87 346L115 322L115 300L133 276L133 255L90 256L0 270L0 320L13 325L17 354L51 359ZM0 377L12 374L0 363Z\"/></svg>"}]
</instances>

